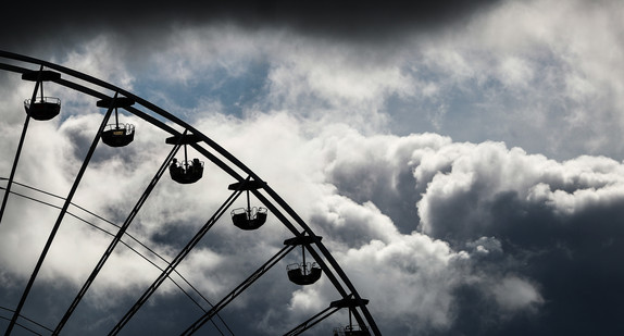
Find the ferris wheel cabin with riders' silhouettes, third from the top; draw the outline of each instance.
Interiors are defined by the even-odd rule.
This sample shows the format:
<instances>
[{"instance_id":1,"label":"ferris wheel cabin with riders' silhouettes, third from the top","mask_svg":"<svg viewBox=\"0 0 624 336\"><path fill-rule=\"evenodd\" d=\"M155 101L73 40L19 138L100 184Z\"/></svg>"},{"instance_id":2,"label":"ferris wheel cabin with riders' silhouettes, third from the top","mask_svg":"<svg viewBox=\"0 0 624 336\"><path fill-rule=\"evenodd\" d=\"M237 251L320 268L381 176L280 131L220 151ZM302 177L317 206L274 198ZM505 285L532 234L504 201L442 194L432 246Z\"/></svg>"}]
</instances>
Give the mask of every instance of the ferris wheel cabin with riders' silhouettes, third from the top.
<instances>
[{"instance_id":1,"label":"ferris wheel cabin with riders' silhouettes, third from the top","mask_svg":"<svg viewBox=\"0 0 624 336\"><path fill-rule=\"evenodd\" d=\"M188 160L186 146L198 142L200 139L195 135L177 135L165 140L169 145L184 145L184 160L173 159L169 172L171 178L179 184L191 184L198 182L203 176L203 161L199 159Z\"/></svg>"}]
</instances>

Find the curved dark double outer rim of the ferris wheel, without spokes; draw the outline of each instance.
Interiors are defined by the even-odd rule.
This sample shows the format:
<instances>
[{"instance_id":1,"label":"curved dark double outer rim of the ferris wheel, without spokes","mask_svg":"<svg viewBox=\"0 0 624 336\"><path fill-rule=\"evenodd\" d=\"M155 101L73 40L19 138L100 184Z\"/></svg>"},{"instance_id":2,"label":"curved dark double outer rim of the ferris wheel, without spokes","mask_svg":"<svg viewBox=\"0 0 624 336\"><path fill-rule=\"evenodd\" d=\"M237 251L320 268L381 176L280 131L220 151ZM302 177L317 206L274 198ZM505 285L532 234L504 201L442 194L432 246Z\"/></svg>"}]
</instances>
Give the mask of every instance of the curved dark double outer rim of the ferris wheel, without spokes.
<instances>
[{"instance_id":1,"label":"curved dark double outer rim of the ferris wheel, without spokes","mask_svg":"<svg viewBox=\"0 0 624 336\"><path fill-rule=\"evenodd\" d=\"M211 151L209 151L208 149L203 148L200 142L191 144L191 147L194 147L198 152L203 154L213 164L215 164L222 171L224 171L229 176L235 178L237 182L242 182L245 179L245 177L242 177L242 176L249 176L253 181L263 183L263 185L264 185L263 190L266 192L266 196L264 196L259 190L252 190L253 195L272 212L272 214L276 215L276 217L295 236L298 237L298 236L309 235L311 237L314 237L313 238L315 240L314 245L319 249L319 251L313 249L311 246L308 247L308 250L309 250L310 254L314 258L315 262L323 269L324 274L332 282L332 284L334 285L334 287L337 289L337 291L339 293L339 295L342 298L353 297L354 299L358 299L358 300L362 299L360 294L358 293L358 290L355 289L355 287L351 283L351 281L348 278L347 274L344 272L344 270L338 264L338 262L334 259L334 257L330 254L330 252L327 250L327 248L320 241L320 239L317 239L317 237L315 236L313 231L310 228L310 226L295 212L295 210L292 208L290 208L290 206L277 192L275 192L269 185L266 185L266 183L264 183L255 173L253 173L253 171L251 171L249 167L247 167L236 157L230 154L228 151L226 151L220 145L214 142L208 136L198 132L191 125L187 124L186 122L182 121L180 119L176 117L175 115L166 112L165 110L157 107L155 104L153 104L153 103L151 103L151 102L138 97L138 96L135 96L132 92L126 91L120 87L116 87L112 84L109 84L104 80L98 79L96 77L86 75L84 73L77 72L75 70L72 70L72 69L68 69L68 67L65 67L62 65L58 65L58 64L50 63L47 61L42 61L42 60L38 60L35 58L30 58L30 57L26 57L26 55L22 55L22 54L16 54L16 53L8 52L8 51L1 51L0 50L0 58L5 58L9 60L24 62L24 63L37 64L40 66L46 66L48 69L52 69L54 71L61 72L65 75L75 77L77 79L87 82L89 84L92 84L95 86L99 86L101 88L108 89L108 90L113 91L113 92L118 92L118 94L121 94L127 98L134 99L138 104L150 110L151 112L155 113L160 117L163 117L163 119L180 126L185 130L189 130L191 134L194 134L195 136L197 136L201 139L201 141L202 141L201 144L205 144L205 146L208 146L212 151L216 152L223 159L228 161L233 166L238 169L238 171L236 171L230 165L226 164L216 154L214 154ZM33 71L33 70L16 66L16 65L9 64L9 63L0 63L0 70L22 73L22 74ZM53 82L55 82L59 85L65 86L67 88L72 88L74 90L80 91L85 95L89 95L89 96L92 96L92 97L96 97L99 99L110 98L110 96L108 96L103 92L100 92L96 89L88 88L88 87L83 86L80 84L71 82L68 79L65 79L64 77L61 77L61 78L55 79ZM161 128L162 130L170 133L173 136L179 136L182 134L179 130L173 128L172 126L162 122L158 117L154 117L153 115L150 115L146 112L142 112L135 107L128 107L128 108L125 108L125 110L128 111L129 113L133 113L134 115L142 119L143 121L151 123L152 125ZM270 200L267 197L271 198L272 200ZM279 210L277 208L277 206L274 204L274 202L285 212L285 214L282 212L282 210ZM298 229L295 226L295 224L292 222L290 222L290 220L288 220L287 216L289 216L296 224L298 224L301 229ZM334 272L335 272L335 274L334 274ZM375 323L375 320L373 319L369 309L365 306L360 306L357 308L360 309L361 314L363 315L362 316L360 314L360 312L354 308L352 310L352 313L353 313L353 316L357 320L357 322L359 324L366 324L369 326L370 331L374 335L382 335L376 323Z\"/></svg>"}]
</instances>

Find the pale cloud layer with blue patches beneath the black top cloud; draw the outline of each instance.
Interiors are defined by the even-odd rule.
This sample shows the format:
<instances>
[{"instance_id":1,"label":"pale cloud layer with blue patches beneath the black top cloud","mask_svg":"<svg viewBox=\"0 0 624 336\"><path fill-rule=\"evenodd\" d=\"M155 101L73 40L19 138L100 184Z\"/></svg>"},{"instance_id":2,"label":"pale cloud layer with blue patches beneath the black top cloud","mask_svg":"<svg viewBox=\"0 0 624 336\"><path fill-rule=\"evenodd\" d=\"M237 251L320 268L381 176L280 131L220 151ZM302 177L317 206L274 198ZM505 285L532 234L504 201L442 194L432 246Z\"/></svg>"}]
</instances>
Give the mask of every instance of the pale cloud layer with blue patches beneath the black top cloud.
<instances>
[{"instance_id":1,"label":"pale cloud layer with blue patches beneath the black top cloud","mask_svg":"<svg viewBox=\"0 0 624 336\"><path fill-rule=\"evenodd\" d=\"M154 14L159 9L142 9L145 15L135 18L135 29L123 30L123 25L122 33L93 29L96 34L63 45L70 47L53 49L63 51L41 48L30 54L61 62L71 59L65 64L130 85L143 96L159 97L166 108L184 108L180 113L189 116L201 102L235 115L282 110L316 116L321 125L358 123L369 134L433 130L460 141L500 140L559 160L582 153L621 155L621 141L614 140L622 105L616 1L572 1L563 7L546 0L484 1L471 8L451 3L388 9L405 14L371 29L391 37L375 38L363 29L361 34L369 36L361 39L364 43L345 42L340 34L305 34L315 32L313 26L286 28L295 25L279 17L292 22L308 17L298 10L290 12L286 4L269 11L284 16L266 21L263 15L269 12L263 11L258 11L258 21L237 21L236 14L228 14L236 11L225 7L207 14L212 17L207 24L194 18L203 14L189 5L178 9L179 17L186 11L198 13L186 16L187 24L163 20L153 30L140 28L141 23L151 27L155 21L150 17L160 15ZM247 10L254 12L245 8L238 17L246 17ZM373 10L379 9L352 8L351 15L344 15L352 18L345 25L359 22L358 13L384 22L384 15ZM349 11L327 7L327 12ZM412 15L432 22L437 17L439 25L421 29L428 21L409 18ZM175 22L178 16L167 17ZM455 21L461 24L450 24ZM241 22L262 24L249 29ZM324 25L327 32L333 29L329 20L321 22L319 32ZM397 28L403 25L407 28ZM139 42L123 42L124 36ZM159 80L162 76L169 79ZM157 85L162 82L166 84ZM203 95L188 95L190 90Z\"/></svg>"}]
</instances>

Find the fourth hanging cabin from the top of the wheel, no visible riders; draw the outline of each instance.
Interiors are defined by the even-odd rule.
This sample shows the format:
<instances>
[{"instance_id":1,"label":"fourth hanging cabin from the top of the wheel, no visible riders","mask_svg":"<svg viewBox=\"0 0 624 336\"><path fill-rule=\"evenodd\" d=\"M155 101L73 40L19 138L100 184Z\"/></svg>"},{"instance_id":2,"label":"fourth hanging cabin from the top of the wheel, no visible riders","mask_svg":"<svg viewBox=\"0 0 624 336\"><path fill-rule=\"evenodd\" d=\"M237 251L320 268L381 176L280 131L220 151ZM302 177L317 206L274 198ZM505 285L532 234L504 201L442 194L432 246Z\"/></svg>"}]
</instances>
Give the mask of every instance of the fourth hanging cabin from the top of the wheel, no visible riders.
<instances>
[{"instance_id":1,"label":"fourth hanging cabin from the top of the wheel, no visible riders","mask_svg":"<svg viewBox=\"0 0 624 336\"><path fill-rule=\"evenodd\" d=\"M242 181L227 187L229 190L245 190L247 192L247 208L237 208L232 210L230 214L234 226L245 231L252 231L260 228L264 223L266 223L266 208L252 208L249 196L250 190L257 190L262 187L263 183L258 181Z\"/></svg>"}]
</instances>

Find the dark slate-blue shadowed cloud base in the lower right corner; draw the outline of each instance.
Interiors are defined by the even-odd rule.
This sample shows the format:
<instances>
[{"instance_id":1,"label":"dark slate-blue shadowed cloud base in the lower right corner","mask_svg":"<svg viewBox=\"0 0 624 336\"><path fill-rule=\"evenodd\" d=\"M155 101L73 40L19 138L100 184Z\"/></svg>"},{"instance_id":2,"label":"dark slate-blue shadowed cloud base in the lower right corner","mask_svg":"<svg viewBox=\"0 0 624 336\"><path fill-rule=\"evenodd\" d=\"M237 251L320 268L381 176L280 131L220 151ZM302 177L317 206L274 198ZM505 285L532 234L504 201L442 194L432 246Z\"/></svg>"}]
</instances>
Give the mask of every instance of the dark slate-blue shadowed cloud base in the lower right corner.
<instances>
[{"instance_id":1,"label":"dark slate-blue shadowed cloud base in the lower right corner","mask_svg":"<svg viewBox=\"0 0 624 336\"><path fill-rule=\"evenodd\" d=\"M495 235L503 252L479 260L478 267L492 277L508 272L534 281L545 302L537 314L504 316L483 299L478 287L461 286L455 293L455 327L469 335L622 333L615 321L624 299L624 273L617 266L624 252L624 229L619 225L623 204L619 200L559 216L549 206L527 204L515 192L499 195L490 212L496 223L473 227L473 234ZM470 225L458 221L444 235L459 241L453 228L464 235L463 224ZM495 320L502 323L492 324Z\"/></svg>"}]
</instances>

